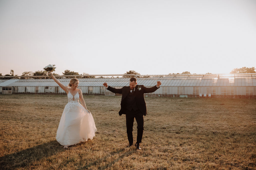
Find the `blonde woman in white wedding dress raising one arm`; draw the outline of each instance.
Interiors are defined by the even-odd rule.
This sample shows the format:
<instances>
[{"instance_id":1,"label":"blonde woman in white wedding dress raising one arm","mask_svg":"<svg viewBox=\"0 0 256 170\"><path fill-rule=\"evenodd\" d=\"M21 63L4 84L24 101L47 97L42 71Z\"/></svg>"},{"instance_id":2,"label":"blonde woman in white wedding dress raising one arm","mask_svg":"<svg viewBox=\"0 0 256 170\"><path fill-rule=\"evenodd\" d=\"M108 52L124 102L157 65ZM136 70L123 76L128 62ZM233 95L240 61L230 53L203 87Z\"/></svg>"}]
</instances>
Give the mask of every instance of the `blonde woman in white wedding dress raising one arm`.
<instances>
[{"instance_id":1,"label":"blonde woman in white wedding dress raising one arm","mask_svg":"<svg viewBox=\"0 0 256 170\"><path fill-rule=\"evenodd\" d=\"M97 131L91 112L83 100L82 90L78 89L79 81L72 78L68 87L61 84L50 72L52 79L66 91L68 103L60 118L56 139L64 148L93 139ZM79 103L79 98L81 104Z\"/></svg>"}]
</instances>

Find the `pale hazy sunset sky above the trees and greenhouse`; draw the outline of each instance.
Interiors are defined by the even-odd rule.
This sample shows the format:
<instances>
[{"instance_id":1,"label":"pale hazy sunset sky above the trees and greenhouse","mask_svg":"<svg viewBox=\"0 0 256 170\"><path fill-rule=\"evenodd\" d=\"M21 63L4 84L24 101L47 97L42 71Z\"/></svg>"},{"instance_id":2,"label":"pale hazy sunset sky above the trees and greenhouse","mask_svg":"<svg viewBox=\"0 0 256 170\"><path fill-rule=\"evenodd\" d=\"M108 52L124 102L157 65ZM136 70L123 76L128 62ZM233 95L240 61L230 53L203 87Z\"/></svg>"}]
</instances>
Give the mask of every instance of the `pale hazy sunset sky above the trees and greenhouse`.
<instances>
[{"instance_id":1,"label":"pale hazy sunset sky above the trees and greenhouse","mask_svg":"<svg viewBox=\"0 0 256 170\"><path fill-rule=\"evenodd\" d=\"M256 67L255 0L0 0L0 73Z\"/></svg>"}]
</instances>

